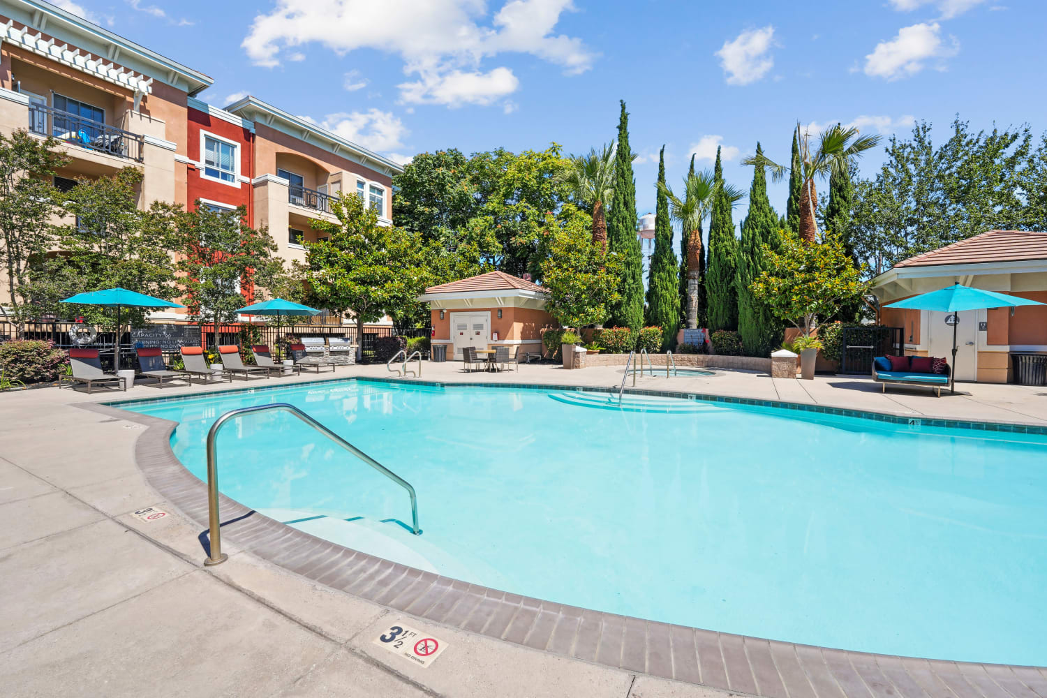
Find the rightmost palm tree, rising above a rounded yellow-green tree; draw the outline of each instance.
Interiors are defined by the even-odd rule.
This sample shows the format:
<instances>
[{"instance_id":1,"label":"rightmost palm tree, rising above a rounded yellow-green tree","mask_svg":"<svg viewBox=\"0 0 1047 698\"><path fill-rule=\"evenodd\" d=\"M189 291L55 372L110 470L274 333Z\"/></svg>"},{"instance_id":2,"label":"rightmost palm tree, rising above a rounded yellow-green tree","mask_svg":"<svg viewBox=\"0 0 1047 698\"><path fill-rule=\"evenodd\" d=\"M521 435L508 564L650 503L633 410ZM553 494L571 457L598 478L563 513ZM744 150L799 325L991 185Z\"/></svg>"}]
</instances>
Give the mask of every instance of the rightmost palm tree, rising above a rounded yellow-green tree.
<instances>
[{"instance_id":1,"label":"rightmost palm tree, rising above a rounded yellow-green tree","mask_svg":"<svg viewBox=\"0 0 1047 698\"><path fill-rule=\"evenodd\" d=\"M797 132L800 132L800 125L797 123ZM839 123L822 131L819 135L818 149L810 151L810 134L804 130L800 136L800 177L803 182L801 187L800 204L800 238L812 243L818 239L818 192L815 189L815 178L825 178L833 173L846 173L851 160L862 156L862 153L875 148L879 142L879 136L859 136L857 129L853 127L843 128ZM742 164L766 167L771 171L773 181L778 182L785 173L790 172L788 167L772 162L767 156L761 154L753 155L741 161Z\"/></svg>"}]
</instances>

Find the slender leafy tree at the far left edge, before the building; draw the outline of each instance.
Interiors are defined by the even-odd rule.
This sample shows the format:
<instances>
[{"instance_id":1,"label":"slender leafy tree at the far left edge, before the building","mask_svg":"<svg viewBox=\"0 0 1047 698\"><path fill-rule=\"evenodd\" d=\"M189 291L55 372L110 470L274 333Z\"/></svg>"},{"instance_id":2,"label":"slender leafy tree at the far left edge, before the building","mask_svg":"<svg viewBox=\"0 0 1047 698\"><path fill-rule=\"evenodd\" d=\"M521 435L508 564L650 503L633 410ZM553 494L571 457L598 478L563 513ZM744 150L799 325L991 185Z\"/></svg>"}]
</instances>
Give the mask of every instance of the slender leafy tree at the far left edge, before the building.
<instances>
[{"instance_id":1,"label":"slender leafy tree at the far left edge, before the building","mask_svg":"<svg viewBox=\"0 0 1047 698\"><path fill-rule=\"evenodd\" d=\"M26 320L38 314L31 268L51 248L51 218L60 211L51 178L68 159L54 152L58 142L24 130L0 134L0 265L19 336Z\"/></svg>"}]
</instances>

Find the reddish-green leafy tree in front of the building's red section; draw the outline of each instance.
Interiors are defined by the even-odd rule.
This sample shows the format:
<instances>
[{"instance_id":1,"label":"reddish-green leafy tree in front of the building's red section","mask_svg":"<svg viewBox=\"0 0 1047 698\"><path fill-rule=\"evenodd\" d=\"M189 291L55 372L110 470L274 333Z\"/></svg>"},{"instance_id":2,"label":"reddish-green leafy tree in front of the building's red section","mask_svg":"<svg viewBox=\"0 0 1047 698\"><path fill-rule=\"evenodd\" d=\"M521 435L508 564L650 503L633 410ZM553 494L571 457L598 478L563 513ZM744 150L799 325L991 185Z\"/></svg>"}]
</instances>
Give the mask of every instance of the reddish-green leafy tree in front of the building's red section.
<instances>
[{"instance_id":1,"label":"reddish-green leafy tree in front of the building's red section","mask_svg":"<svg viewBox=\"0 0 1047 698\"><path fill-rule=\"evenodd\" d=\"M236 311L248 302L245 293L253 291L254 300L262 300L262 289L280 282L284 265L273 256L276 244L269 232L247 225L244 206L226 211L199 199L194 203L193 210L174 218L173 247L183 274L178 280L185 289L181 302L198 323L218 328L236 321Z\"/></svg>"}]
</instances>

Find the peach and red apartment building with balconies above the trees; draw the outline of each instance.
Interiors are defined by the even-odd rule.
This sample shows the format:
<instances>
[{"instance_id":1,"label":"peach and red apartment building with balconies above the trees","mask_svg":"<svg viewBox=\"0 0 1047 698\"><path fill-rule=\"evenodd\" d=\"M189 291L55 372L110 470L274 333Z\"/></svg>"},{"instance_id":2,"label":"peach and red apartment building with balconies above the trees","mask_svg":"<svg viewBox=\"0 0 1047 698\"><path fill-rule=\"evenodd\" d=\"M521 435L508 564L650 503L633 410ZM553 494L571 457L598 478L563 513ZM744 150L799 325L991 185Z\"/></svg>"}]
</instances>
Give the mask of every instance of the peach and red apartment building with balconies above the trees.
<instances>
[{"instance_id":1,"label":"peach and red apartment building with balconies above the trees","mask_svg":"<svg viewBox=\"0 0 1047 698\"><path fill-rule=\"evenodd\" d=\"M363 197L392 224L400 165L252 96L208 105L201 93L213 82L42 0L0 0L0 133L58 138L70 157L60 188L137 167L139 206L244 206L288 263L318 239L315 221L336 220L330 201L339 192Z\"/></svg>"}]
</instances>

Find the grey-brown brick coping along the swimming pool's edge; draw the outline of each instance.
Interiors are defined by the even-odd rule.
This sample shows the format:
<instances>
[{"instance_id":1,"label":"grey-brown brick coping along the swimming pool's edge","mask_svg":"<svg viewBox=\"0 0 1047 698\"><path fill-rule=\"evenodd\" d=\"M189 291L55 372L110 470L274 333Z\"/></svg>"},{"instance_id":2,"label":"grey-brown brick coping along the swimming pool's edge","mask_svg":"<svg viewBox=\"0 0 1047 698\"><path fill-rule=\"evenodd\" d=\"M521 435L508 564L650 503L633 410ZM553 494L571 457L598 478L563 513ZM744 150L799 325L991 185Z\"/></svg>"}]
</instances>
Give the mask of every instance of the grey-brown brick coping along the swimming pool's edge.
<instances>
[{"instance_id":1,"label":"grey-brown brick coping along the swimming pool's edge","mask_svg":"<svg viewBox=\"0 0 1047 698\"><path fill-rule=\"evenodd\" d=\"M429 386L484 386L517 389L586 390L606 388L551 384L422 381L387 377L335 379ZM295 383L330 384L332 379ZM273 386L276 387L276 386ZM291 386L287 386L291 387ZM259 390L243 386L194 396L119 400L79 407L146 427L135 443L135 461L165 500L204 528L206 485L175 457L171 434L177 423L130 412L119 406L174 402L217 393ZM268 391L268 390L267 390ZM629 389L632 395L695 396L686 390ZM783 401L700 396L714 402L819 408ZM908 424L911 418L838 408L812 409L848 416L877 414ZM890 420L887 420L890 418ZM868 419L868 418L867 418ZM875 419L875 418L873 418ZM922 426L935 420L920 419ZM938 420L941 426L953 420ZM970 423L993 431L1004 423ZM1032 426L1032 425L1029 425ZM962 427L961 427L962 428ZM968 427L970 428L970 427ZM1023 433L1047 433L1032 426ZM593 611L503 592L408 567L317 538L270 519L220 495L223 533L241 549L306 579L425 621L471 631L532 649L604 667L699 683L736 693L781 698L1047 698L1047 671L1035 667L957 662L852 652L810 645L678 626Z\"/></svg>"}]
</instances>

